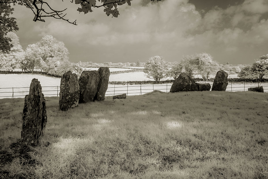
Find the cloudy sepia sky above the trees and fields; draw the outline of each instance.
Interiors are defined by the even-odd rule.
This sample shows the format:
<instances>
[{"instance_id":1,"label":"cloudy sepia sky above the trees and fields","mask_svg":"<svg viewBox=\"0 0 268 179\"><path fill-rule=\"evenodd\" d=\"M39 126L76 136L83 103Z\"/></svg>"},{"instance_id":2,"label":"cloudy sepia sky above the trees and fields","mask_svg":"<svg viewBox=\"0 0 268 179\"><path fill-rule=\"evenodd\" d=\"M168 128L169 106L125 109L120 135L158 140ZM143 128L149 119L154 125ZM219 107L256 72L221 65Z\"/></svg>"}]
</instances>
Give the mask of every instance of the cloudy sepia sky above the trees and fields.
<instances>
[{"instance_id":1,"label":"cloudy sepia sky above the trees and fields","mask_svg":"<svg viewBox=\"0 0 268 179\"><path fill-rule=\"evenodd\" d=\"M146 62L156 55L179 62L206 52L222 64L250 64L268 53L268 0L133 0L118 6L118 18L103 8L79 14L69 0L48 2L67 8L65 17L78 25L54 18L33 22L33 12L16 5L15 33L23 49L52 35L72 62Z\"/></svg>"}]
</instances>

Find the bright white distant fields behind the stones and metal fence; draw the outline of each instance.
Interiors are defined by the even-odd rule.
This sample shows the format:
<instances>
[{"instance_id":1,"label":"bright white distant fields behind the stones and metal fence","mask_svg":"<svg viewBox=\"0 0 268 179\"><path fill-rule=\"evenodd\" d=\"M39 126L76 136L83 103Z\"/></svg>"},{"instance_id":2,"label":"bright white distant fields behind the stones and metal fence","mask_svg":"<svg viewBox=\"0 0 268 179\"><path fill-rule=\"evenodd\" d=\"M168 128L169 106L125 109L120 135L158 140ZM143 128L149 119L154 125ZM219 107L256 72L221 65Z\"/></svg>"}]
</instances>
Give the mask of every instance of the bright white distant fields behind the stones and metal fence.
<instances>
[{"instance_id":1,"label":"bright white distant fields behind the stones and metal fence","mask_svg":"<svg viewBox=\"0 0 268 179\"><path fill-rule=\"evenodd\" d=\"M117 68L121 69L122 68ZM91 69L94 70L94 69ZM125 69L124 69L125 70ZM215 75L211 75L212 78L214 78ZM236 78L237 74L235 73L229 73L229 76L231 78ZM199 77L196 75L195 77ZM37 78L40 81L41 86L43 86L42 90L43 93L46 96L55 96L59 94L60 91L60 83L61 78L56 77L50 77L50 76L44 76L40 74L0 74L0 98L4 98L3 96L12 96L12 90L15 92L14 97L24 97L28 94L29 88L23 88L23 87L29 87L31 84L31 80L33 78ZM163 80L172 80L173 78L165 78ZM144 76L144 72L131 72L131 73L122 73L122 74L111 74L109 81L154 81L153 79L147 78ZM202 83L202 82L201 82ZM211 85L213 82L209 82ZM124 86L124 85L118 85L115 86L113 84L109 84L108 90L106 95L114 95L114 94L122 94L122 93L128 93L128 95L139 95L144 94L153 91L153 89L158 89L163 92L168 92L171 87L171 83L169 84L159 84L154 85L152 84L143 84L142 87L140 85L131 85ZM260 86L263 85L265 92L268 92L268 84L262 83L259 84ZM45 87L45 86L55 86L55 87ZM57 87L58 86L58 87ZM231 89L231 86L233 89ZM258 84L246 84L244 88L244 84L232 84L229 83L227 86L227 91L247 91L249 87L256 87ZM14 87L14 89L12 89ZM20 87L20 88L17 88ZM116 87L116 89L114 89ZM118 88L120 87L120 88ZM2 89L1 89L2 88ZM9 88L9 89L3 89L3 88ZM141 90L140 90L141 89ZM127 92L127 90L130 90ZM131 91L132 90L132 91ZM140 93L141 91L141 93ZM3 93L6 92L6 93Z\"/></svg>"}]
</instances>

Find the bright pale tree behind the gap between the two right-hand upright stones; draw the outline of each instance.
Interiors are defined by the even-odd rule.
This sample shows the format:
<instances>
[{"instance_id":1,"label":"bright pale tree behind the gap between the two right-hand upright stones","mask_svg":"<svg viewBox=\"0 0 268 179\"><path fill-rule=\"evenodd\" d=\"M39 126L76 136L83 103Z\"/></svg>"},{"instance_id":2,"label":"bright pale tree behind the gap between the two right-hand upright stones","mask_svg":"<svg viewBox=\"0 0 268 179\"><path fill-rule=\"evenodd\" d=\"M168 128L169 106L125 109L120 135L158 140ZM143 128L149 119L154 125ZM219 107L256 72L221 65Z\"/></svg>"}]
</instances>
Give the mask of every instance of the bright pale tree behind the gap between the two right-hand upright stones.
<instances>
[{"instance_id":1,"label":"bright pale tree behind the gap between the two right-hand upright stones","mask_svg":"<svg viewBox=\"0 0 268 179\"><path fill-rule=\"evenodd\" d=\"M208 53L199 53L196 55L197 72L201 74L204 81L206 81L211 72L219 69L218 62L213 60L213 57Z\"/></svg>"}]
</instances>

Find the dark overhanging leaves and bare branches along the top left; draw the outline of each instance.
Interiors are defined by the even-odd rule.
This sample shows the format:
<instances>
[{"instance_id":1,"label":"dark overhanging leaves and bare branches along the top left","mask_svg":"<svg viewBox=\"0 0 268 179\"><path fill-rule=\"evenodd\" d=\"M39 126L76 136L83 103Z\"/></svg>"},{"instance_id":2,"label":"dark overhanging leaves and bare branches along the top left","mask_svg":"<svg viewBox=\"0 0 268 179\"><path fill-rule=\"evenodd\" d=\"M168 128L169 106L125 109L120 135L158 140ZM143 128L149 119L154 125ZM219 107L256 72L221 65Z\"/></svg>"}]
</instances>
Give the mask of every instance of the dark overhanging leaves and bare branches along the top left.
<instances>
[{"instance_id":1,"label":"dark overhanging leaves and bare branches along the top left","mask_svg":"<svg viewBox=\"0 0 268 179\"><path fill-rule=\"evenodd\" d=\"M97 1L99 1L98 4ZM88 12L93 11L92 8L102 7L105 14L107 16L112 15L112 17L118 17L118 6L126 3L127 5L131 5L131 1L133 0L71 0L72 3L79 4L81 6L77 9L79 12L87 14ZM22 5L25 8L28 8L32 11L34 15L33 21L35 22L45 22L45 18L52 17L77 25L76 20L70 21L65 17L65 10L67 8L54 9L48 0L0 0L0 51L2 52L8 52L12 47L12 44L10 43L11 39L5 36L7 32L11 32L13 30L17 31L19 29L16 18L11 17L14 12L12 5ZM73 7L75 8L75 6Z\"/></svg>"}]
</instances>

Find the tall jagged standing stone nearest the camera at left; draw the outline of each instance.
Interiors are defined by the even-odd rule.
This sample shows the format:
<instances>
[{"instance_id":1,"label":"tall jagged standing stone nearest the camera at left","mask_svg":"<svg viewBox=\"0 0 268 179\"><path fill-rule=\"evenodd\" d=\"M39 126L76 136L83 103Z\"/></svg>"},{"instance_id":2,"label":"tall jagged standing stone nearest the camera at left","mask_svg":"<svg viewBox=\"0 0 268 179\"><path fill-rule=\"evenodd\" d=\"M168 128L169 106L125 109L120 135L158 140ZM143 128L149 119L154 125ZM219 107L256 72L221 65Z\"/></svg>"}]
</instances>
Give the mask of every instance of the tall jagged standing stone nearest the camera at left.
<instances>
[{"instance_id":1,"label":"tall jagged standing stone nearest the camera at left","mask_svg":"<svg viewBox=\"0 0 268 179\"><path fill-rule=\"evenodd\" d=\"M35 147L38 145L39 137L43 135L46 122L46 100L40 82L33 78L29 95L24 98L20 153L24 153L29 146Z\"/></svg>"}]
</instances>

